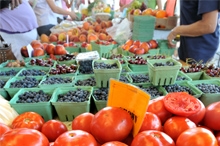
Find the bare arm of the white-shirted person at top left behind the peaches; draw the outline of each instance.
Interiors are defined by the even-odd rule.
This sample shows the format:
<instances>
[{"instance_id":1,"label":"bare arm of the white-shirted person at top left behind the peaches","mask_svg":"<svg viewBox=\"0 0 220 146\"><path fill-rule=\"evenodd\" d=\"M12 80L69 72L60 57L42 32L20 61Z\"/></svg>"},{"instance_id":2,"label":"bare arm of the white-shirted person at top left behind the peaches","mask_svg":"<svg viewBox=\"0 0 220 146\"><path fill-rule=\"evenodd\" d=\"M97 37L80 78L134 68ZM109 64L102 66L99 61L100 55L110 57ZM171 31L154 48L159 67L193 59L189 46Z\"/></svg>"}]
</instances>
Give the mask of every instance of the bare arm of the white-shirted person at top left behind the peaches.
<instances>
[{"instance_id":1,"label":"bare arm of the white-shirted person at top left behind the peaches","mask_svg":"<svg viewBox=\"0 0 220 146\"><path fill-rule=\"evenodd\" d=\"M54 1L52 0L46 0L46 1L54 13L61 14L61 15L69 15L72 19L76 19L76 14L74 12L67 11L67 10L64 10L63 8L56 6Z\"/></svg>"}]
</instances>

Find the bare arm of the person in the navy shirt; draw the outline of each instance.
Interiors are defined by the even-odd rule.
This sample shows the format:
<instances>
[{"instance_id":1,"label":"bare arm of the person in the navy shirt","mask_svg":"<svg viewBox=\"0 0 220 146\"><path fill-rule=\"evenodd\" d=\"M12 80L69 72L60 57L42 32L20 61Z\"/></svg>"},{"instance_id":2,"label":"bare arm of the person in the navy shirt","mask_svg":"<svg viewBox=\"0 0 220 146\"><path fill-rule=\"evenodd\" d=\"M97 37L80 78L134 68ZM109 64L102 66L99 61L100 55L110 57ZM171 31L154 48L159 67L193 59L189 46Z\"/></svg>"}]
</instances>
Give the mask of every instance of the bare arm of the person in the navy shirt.
<instances>
[{"instance_id":1,"label":"bare arm of the person in the navy shirt","mask_svg":"<svg viewBox=\"0 0 220 146\"><path fill-rule=\"evenodd\" d=\"M177 35L188 36L188 37L197 37L205 34L213 33L216 29L218 21L218 10L204 13L202 20L199 20L190 25L180 25L175 27L167 37L167 40L171 46L175 44L172 43L172 40Z\"/></svg>"}]
</instances>

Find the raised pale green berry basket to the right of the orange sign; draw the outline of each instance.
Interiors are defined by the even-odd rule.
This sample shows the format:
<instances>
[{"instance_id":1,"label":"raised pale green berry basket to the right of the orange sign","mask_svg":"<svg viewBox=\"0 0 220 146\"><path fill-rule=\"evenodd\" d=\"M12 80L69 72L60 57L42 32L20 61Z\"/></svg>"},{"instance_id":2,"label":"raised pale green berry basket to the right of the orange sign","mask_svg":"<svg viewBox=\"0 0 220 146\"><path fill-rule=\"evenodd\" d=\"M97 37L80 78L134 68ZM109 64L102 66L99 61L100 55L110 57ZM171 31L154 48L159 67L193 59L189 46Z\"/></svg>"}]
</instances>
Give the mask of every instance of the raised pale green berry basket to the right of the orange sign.
<instances>
[{"instance_id":1,"label":"raised pale green berry basket to the right of the orange sign","mask_svg":"<svg viewBox=\"0 0 220 146\"><path fill-rule=\"evenodd\" d=\"M155 63L173 62L174 66L154 66ZM174 84L182 64L178 61L168 59L150 59L148 60L148 71L150 81L153 85Z\"/></svg>"}]
</instances>

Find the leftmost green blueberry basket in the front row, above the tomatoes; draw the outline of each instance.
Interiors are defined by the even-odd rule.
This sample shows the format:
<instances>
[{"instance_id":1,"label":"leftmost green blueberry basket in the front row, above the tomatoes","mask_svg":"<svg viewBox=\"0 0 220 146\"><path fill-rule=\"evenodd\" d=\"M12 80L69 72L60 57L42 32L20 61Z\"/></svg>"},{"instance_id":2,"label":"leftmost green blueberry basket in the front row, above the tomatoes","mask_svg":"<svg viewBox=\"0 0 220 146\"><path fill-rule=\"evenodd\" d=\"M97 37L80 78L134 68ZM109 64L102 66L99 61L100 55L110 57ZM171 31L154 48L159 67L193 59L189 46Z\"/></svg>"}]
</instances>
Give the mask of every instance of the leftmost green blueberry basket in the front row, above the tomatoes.
<instances>
[{"instance_id":1,"label":"leftmost green blueberry basket in the front row, above the tomatoes","mask_svg":"<svg viewBox=\"0 0 220 146\"><path fill-rule=\"evenodd\" d=\"M45 121L51 120L54 118L55 110L52 107L52 95L54 90L53 89L43 89L43 92L51 96L50 100L47 102L35 102L35 103L17 103L19 99L19 95L24 94L25 92L29 91L40 91L42 89L39 88L31 88L31 89L20 89L14 97L10 100L10 105L18 112L18 114L22 114L24 112L36 112L40 114Z\"/></svg>"}]
</instances>

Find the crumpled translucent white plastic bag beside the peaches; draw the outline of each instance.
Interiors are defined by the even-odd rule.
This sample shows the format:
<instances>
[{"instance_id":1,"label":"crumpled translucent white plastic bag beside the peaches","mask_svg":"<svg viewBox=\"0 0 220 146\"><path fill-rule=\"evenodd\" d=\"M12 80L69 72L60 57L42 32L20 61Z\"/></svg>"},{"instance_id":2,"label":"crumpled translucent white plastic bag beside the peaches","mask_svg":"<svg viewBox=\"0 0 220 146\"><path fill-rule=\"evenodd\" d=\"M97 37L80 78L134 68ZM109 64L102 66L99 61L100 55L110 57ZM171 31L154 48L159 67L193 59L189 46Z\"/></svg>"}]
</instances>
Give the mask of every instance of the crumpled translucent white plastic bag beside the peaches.
<instances>
[{"instance_id":1,"label":"crumpled translucent white plastic bag beside the peaches","mask_svg":"<svg viewBox=\"0 0 220 146\"><path fill-rule=\"evenodd\" d=\"M114 23L113 23L114 24ZM121 23L116 23L112 27L106 29L107 33L119 44L123 44L131 38L131 22L127 18Z\"/></svg>"}]
</instances>

